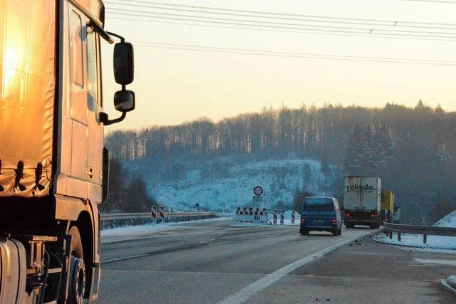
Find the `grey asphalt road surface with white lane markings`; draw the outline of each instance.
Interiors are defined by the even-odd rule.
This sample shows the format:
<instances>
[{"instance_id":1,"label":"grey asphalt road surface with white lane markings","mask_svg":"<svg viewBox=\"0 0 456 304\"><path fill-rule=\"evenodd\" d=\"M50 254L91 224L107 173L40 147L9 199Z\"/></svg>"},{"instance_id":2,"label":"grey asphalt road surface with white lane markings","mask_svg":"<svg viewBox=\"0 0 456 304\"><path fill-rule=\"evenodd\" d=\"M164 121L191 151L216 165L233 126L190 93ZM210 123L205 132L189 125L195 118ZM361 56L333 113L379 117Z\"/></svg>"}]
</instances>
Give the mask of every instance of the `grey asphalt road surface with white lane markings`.
<instances>
[{"instance_id":1,"label":"grey asphalt road surface with white lane markings","mask_svg":"<svg viewBox=\"0 0 456 304\"><path fill-rule=\"evenodd\" d=\"M371 229L182 223L104 243L98 303L454 303L438 285L456 256L376 243ZM416 258L421 258L417 260ZM423 263L423 261L427 261ZM431 261L431 262L429 262Z\"/></svg>"}]
</instances>

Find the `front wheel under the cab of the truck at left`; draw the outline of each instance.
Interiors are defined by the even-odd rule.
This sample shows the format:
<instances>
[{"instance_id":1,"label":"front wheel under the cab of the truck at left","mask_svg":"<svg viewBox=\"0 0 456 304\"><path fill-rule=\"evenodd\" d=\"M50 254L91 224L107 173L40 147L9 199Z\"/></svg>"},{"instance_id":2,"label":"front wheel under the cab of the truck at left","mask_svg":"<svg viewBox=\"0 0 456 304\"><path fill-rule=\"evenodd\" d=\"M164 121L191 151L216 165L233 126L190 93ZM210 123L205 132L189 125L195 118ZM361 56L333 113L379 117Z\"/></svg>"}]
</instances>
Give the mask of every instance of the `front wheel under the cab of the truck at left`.
<instances>
[{"instance_id":1,"label":"front wheel under the cab of the truck at left","mask_svg":"<svg viewBox=\"0 0 456 304\"><path fill-rule=\"evenodd\" d=\"M83 245L78 227L71 227L70 281L68 282L68 304L83 304L86 292L86 266L83 260Z\"/></svg>"}]
</instances>

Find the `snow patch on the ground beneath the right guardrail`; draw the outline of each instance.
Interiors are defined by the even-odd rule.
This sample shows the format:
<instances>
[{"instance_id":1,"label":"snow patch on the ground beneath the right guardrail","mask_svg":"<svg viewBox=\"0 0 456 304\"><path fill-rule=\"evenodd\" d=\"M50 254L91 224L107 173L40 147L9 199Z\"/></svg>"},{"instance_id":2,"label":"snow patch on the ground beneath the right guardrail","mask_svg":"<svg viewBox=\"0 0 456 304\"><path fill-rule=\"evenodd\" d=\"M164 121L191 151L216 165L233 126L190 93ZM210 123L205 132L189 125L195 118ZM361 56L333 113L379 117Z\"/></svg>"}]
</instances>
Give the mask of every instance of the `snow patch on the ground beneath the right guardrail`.
<instances>
[{"instance_id":1,"label":"snow patch on the ground beneath the right guardrail","mask_svg":"<svg viewBox=\"0 0 456 304\"><path fill-rule=\"evenodd\" d=\"M427 236L427 243L425 244L421 234L400 234L401 241L398 241L398 234L393 234L393 239L390 239L382 233L373 236L373 239L399 246L456 250L456 237L453 236Z\"/></svg>"}]
</instances>

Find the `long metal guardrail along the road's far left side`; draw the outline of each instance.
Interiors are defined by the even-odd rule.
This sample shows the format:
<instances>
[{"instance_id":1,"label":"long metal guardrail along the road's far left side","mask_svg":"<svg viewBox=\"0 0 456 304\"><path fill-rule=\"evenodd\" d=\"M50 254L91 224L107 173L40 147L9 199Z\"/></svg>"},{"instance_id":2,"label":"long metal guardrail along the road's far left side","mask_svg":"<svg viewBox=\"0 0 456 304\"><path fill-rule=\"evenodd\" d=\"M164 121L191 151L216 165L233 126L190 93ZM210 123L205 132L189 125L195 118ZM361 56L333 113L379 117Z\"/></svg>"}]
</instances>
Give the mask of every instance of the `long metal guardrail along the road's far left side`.
<instances>
[{"instance_id":1,"label":"long metal guardrail along the road's far left side","mask_svg":"<svg viewBox=\"0 0 456 304\"><path fill-rule=\"evenodd\" d=\"M216 212L165 212L164 222L192 221L196 219L212 219ZM100 214L102 229L115 226L150 224L153 218L150 212Z\"/></svg>"}]
</instances>

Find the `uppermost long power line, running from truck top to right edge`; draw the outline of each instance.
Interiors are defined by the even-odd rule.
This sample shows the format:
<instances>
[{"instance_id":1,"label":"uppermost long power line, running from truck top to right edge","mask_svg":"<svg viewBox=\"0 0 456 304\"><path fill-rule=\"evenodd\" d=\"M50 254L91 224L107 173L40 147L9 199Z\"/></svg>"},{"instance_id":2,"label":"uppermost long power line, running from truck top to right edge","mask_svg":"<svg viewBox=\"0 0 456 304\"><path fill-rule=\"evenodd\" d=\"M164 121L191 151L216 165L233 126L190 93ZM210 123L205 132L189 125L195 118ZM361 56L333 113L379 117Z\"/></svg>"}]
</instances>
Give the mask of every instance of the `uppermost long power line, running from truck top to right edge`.
<instances>
[{"instance_id":1,"label":"uppermost long power line, running from truck top to right edge","mask_svg":"<svg viewBox=\"0 0 456 304\"><path fill-rule=\"evenodd\" d=\"M403 1L412 1L412 0L403 0ZM419 1L419 0L414 0ZM425 0L421 0L425 1ZM429 0L427 0L429 1ZM395 21L395 20L385 20L385 19L359 19L359 18L346 18L346 17L334 17L334 16L318 16L318 15L306 15L306 14L286 14L286 13L276 13L276 12L269 12L269 11L249 11L249 10L242 10L242 9L224 9L218 7L210 7L210 6L192 6L192 5L185 5L185 4L167 4L167 3L160 3L154 1L141 1L141 0L122 0L122 3L129 2L130 4L126 4L128 6L137 6L138 4L152 4L158 6L172 6L172 7L185 7L190 9L207 9L207 10L214 10L214 11L228 11L228 12L239 12L239 13L249 13L249 14L266 14L272 16L291 16L291 17L304 17L304 18L318 18L318 19L333 19L333 20L341 20L341 21L368 21L368 22L384 22L384 23L405 23L405 24L427 24L427 25L440 25L440 26L456 26L455 23L432 23L432 22L418 22L418 21ZM106 1L106 3L110 4L120 4L113 1ZM133 3L133 4L131 4Z\"/></svg>"}]
</instances>

